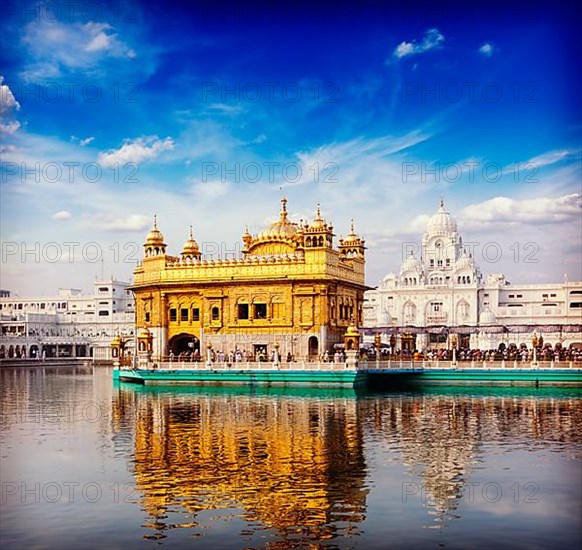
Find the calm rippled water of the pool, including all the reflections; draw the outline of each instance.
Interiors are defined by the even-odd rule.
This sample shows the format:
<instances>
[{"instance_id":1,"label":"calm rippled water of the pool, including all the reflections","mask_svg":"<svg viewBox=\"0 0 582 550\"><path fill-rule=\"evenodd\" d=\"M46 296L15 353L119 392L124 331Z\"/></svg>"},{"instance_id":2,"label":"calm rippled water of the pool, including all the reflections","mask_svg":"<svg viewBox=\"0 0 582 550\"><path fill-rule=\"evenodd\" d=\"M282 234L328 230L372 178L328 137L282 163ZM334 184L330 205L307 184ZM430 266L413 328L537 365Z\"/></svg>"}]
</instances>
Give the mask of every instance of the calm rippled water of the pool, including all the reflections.
<instances>
[{"instance_id":1,"label":"calm rippled water of the pool, including all the reflections","mask_svg":"<svg viewBox=\"0 0 582 550\"><path fill-rule=\"evenodd\" d=\"M582 543L579 390L0 383L4 549Z\"/></svg>"}]
</instances>

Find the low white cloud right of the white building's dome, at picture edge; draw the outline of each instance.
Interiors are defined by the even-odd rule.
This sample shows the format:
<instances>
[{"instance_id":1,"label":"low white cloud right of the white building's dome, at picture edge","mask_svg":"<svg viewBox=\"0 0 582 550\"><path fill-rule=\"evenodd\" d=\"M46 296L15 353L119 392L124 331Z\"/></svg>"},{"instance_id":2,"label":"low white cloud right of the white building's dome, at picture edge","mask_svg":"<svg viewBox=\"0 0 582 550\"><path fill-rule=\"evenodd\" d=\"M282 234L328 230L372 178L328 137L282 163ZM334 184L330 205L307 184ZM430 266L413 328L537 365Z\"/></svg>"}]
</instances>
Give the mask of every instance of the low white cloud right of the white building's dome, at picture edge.
<instances>
[{"instance_id":1,"label":"low white cloud right of the white building's dome, at picture edge","mask_svg":"<svg viewBox=\"0 0 582 550\"><path fill-rule=\"evenodd\" d=\"M540 197L516 200L495 197L466 206L460 220L480 223L555 223L579 219L582 214L582 195L572 193L562 197Z\"/></svg>"}]
</instances>

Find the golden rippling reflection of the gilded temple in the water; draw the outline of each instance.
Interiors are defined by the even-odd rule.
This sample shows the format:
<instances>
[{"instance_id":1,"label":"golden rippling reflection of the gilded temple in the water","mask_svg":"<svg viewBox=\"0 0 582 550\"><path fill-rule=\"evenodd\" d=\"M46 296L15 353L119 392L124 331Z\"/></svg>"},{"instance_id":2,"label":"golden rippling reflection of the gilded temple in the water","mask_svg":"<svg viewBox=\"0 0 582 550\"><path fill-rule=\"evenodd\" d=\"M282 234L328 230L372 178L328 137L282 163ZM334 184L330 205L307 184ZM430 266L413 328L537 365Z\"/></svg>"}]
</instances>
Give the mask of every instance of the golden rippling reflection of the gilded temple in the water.
<instances>
[{"instance_id":1,"label":"golden rippling reflection of the gilded temple in the water","mask_svg":"<svg viewBox=\"0 0 582 550\"><path fill-rule=\"evenodd\" d=\"M248 521L324 539L334 522L364 518L355 400L200 396L137 410L136 486L158 522L178 504L192 514L236 505Z\"/></svg>"}]
</instances>

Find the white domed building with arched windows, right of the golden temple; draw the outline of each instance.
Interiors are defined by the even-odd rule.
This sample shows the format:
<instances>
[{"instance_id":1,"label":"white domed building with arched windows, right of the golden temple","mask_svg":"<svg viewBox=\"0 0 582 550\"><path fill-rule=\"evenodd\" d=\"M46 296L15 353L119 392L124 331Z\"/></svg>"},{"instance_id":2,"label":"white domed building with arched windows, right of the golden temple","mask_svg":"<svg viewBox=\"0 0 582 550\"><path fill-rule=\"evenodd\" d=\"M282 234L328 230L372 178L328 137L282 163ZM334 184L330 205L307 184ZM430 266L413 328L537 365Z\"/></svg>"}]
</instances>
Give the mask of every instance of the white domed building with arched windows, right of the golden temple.
<instances>
[{"instance_id":1,"label":"white domed building with arched windows, right of the golden temple","mask_svg":"<svg viewBox=\"0 0 582 550\"><path fill-rule=\"evenodd\" d=\"M427 224L418 257L411 252L398 275L390 273L365 294L364 332L390 337L397 349L448 346L497 348L544 340L582 342L582 282L514 285L504 275L483 277L463 247L444 202ZM581 344L582 345L582 344Z\"/></svg>"}]
</instances>

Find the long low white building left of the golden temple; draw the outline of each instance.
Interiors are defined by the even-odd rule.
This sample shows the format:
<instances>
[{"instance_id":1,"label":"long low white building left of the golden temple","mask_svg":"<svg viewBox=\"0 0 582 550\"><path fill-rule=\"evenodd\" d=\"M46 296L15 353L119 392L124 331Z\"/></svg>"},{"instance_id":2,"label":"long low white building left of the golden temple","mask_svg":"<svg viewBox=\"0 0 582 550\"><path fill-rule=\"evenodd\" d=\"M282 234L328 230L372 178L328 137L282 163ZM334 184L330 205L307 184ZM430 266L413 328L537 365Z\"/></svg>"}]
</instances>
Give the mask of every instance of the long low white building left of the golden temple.
<instances>
[{"instance_id":1,"label":"long low white building left of the golden temple","mask_svg":"<svg viewBox=\"0 0 582 550\"><path fill-rule=\"evenodd\" d=\"M98 281L93 294L59 289L55 296L0 297L0 357L109 359L116 334L133 334L128 283Z\"/></svg>"}]
</instances>

